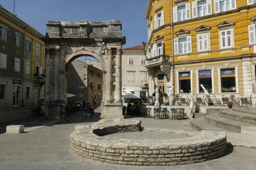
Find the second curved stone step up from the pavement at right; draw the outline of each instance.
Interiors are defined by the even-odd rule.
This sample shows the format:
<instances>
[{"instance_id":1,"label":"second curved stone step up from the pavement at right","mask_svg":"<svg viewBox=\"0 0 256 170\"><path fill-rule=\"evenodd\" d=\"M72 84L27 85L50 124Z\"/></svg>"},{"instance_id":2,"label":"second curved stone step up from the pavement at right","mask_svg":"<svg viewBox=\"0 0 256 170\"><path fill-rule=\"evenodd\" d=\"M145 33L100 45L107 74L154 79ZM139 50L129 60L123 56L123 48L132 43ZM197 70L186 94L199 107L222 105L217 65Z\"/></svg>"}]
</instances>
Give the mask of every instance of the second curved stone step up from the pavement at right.
<instances>
[{"instance_id":1,"label":"second curved stone step up from the pavement at right","mask_svg":"<svg viewBox=\"0 0 256 170\"><path fill-rule=\"evenodd\" d=\"M228 131L241 133L241 126L253 126L244 122L237 122L236 120L230 120L227 118L220 117L218 113L205 116L205 121L211 125L227 129Z\"/></svg>"}]
</instances>

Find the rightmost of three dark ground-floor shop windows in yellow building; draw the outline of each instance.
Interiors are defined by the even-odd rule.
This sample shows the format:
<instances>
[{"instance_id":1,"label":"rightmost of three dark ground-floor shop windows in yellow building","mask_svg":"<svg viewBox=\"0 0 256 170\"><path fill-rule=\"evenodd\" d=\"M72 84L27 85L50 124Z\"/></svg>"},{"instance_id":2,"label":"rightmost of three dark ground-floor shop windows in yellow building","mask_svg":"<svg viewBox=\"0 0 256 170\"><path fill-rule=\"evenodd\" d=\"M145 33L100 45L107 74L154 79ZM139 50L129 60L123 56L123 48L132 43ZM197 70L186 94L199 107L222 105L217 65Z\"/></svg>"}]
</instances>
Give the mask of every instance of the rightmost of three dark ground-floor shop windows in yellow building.
<instances>
[{"instance_id":1,"label":"rightmost of three dark ground-floor shop windows in yellow building","mask_svg":"<svg viewBox=\"0 0 256 170\"><path fill-rule=\"evenodd\" d=\"M221 92L236 92L235 69L221 69Z\"/></svg>"}]
</instances>

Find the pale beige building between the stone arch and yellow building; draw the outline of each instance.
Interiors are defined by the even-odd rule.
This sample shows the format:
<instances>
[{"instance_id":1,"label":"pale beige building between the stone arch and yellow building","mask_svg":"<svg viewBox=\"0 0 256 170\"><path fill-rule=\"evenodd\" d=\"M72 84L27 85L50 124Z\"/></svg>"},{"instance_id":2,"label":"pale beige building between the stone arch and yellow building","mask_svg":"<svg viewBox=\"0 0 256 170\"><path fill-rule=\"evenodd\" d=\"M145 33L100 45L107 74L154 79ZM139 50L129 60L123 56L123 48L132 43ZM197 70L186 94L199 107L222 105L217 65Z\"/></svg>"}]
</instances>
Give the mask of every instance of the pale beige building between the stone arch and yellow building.
<instances>
[{"instance_id":1,"label":"pale beige building between the stone arch and yellow building","mask_svg":"<svg viewBox=\"0 0 256 170\"><path fill-rule=\"evenodd\" d=\"M136 96L147 97L147 90L143 89L148 81L145 65L146 57L143 45L123 49L122 92L130 90Z\"/></svg>"}]
</instances>

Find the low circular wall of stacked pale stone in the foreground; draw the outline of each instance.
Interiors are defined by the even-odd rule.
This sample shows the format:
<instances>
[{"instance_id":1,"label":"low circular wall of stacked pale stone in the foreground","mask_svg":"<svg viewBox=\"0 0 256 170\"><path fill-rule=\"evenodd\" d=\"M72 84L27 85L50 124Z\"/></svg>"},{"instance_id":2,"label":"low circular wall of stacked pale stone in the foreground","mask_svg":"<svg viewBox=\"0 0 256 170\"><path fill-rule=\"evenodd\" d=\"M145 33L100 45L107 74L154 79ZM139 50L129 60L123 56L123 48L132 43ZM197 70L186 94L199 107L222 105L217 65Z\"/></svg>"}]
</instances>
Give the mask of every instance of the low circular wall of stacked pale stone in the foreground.
<instances>
[{"instance_id":1,"label":"low circular wall of stacked pale stone in the foreground","mask_svg":"<svg viewBox=\"0 0 256 170\"><path fill-rule=\"evenodd\" d=\"M169 166L216 159L224 155L227 149L225 132L145 128L143 135L160 133L174 138L150 139L150 136L147 136L132 139L132 136L128 136L124 139L108 136L118 132L141 130L141 122L138 120L120 120L78 129L70 134L70 150L83 159L100 162Z\"/></svg>"}]
</instances>

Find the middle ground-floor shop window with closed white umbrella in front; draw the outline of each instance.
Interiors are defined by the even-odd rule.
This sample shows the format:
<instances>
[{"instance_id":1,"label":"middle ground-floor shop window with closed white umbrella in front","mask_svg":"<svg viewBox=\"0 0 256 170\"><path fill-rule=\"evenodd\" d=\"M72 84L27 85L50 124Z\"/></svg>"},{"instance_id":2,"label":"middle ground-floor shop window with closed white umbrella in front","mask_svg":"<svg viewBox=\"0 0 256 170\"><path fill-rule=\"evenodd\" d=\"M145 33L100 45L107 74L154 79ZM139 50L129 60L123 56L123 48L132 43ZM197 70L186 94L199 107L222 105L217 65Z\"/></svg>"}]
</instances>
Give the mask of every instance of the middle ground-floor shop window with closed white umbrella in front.
<instances>
[{"instance_id":1,"label":"middle ground-floor shop window with closed white umbrella in front","mask_svg":"<svg viewBox=\"0 0 256 170\"><path fill-rule=\"evenodd\" d=\"M212 71L211 70L202 70L198 71L198 83L199 83L199 92L204 93L204 89L207 92L212 92ZM201 86L203 85L203 87Z\"/></svg>"}]
</instances>

